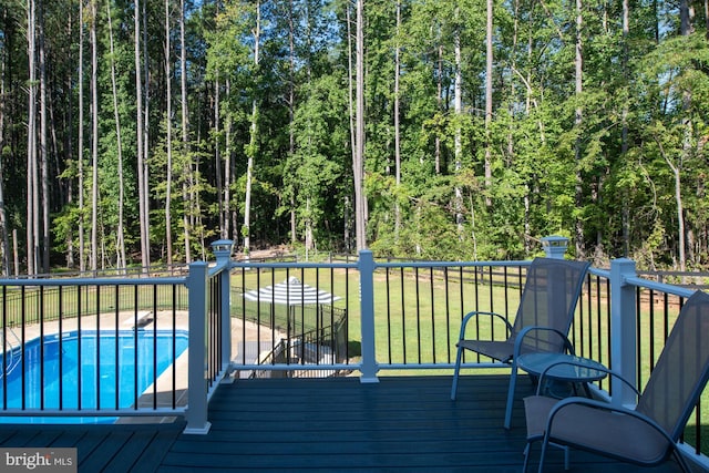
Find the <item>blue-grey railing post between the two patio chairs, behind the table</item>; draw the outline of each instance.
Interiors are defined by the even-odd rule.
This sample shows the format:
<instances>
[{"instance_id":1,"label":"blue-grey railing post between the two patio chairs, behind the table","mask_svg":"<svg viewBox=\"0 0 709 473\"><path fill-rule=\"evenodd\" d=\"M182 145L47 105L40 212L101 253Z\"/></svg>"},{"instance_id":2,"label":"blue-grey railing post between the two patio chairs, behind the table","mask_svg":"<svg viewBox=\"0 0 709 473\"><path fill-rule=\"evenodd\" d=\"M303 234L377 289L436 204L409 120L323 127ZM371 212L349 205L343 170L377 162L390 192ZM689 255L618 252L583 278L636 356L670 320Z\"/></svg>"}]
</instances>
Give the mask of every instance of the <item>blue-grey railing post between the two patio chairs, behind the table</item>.
<instances>
[{"instance_id":1,"label":"blue-grey railing post between the two patio chairs, behind the table","mask_svg":"<svg viewBox=\"0 0 709 473\"><path fill-rule=\"evenodd\" d=\"M633 384L637 380L637 318L635 287L625 284L635 277L635 261L628 258L610 261L610 360L613 369ZM610 380L613 403L635 405L637 397L617 378Z\"/></svg>"}]
</instances>

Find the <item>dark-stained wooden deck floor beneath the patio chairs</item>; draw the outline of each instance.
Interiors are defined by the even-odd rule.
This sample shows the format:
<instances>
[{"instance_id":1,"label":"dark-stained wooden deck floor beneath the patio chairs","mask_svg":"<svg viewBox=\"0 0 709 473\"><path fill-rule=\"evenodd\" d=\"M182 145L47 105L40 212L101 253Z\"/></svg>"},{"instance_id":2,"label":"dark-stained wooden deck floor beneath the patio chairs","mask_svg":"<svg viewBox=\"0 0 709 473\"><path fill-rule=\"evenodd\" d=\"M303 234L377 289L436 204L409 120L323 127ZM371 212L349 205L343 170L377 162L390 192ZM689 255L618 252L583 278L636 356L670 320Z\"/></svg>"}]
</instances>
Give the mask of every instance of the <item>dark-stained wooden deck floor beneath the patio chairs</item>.
<instances>
[{"instance_id":1,"label":"dark-stained wooden deck floor beneath the patio chairs","mask_svg":"<svg viewBox=\"0 0 709 473\"><path fill-rule=\"evenodd\" d=\"M80 472L393 471L521 472L525 446L521 380L513 429L502 428L506 376L237 380L218 389L207 435L157 425L0 425L0 448L78 449ZM547 472L563 472L548 456ZM533 450L536 466L538 448ZM536 471L530 469L530 471ZM669 473L572 452L572 472Z\"/></svg>"}]
</instances>

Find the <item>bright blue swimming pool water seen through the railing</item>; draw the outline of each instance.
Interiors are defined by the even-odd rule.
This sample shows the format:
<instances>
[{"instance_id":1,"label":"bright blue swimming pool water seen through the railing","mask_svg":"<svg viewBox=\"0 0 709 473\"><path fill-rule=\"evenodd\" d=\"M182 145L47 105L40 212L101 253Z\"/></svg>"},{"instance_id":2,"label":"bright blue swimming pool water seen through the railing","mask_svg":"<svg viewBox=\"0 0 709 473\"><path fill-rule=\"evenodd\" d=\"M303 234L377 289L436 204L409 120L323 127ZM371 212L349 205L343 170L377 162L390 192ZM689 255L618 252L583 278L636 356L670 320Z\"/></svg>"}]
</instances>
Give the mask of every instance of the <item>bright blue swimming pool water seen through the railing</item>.
<instances>
[{"instance_id":1,"label":"bright blue swimming pool water seen through the railing","mask_svg":"<svg viewBox=\"0 0 709 473\"><path fill-rule=\"evenodd\" d=\"M42 402L44 409L59 409L60 395L62 409L76 409L79 402L81 409L115 409L116 403L117 408L130 408L136 395L153 383L154 370L155 378L160 377L185 351L187 340L186 331L177 331L174 352L172 330L121 330L117 337L115 331L82 331L81 338L73 331L62 333L61 338L60 335L45 336L43 345L39 338L30 340L24 351L12 353L14 364L10 364L9 353L6 356L7 380L2 379L0 353L0 409L6 387L8 409L22 408L23 398L25 409L40 409ZM24 358L24 389L19 357ZM114 420L75 418L73 422ZM14 422L52 423L66 422L66 419L2 417L0 412L0 423Z\"/></svg>"}]
</instances>

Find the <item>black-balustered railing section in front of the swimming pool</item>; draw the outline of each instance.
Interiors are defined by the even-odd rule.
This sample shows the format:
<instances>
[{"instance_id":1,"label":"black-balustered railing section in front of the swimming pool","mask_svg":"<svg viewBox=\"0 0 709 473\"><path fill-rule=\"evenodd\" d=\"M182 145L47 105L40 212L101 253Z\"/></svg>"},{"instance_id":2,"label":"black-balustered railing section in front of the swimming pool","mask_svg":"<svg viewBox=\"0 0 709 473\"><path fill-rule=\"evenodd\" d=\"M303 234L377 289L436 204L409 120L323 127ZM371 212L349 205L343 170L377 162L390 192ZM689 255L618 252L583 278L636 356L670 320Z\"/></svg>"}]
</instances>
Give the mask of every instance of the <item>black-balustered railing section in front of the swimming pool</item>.
<instances>
[{"instance_id":1,"label":"black-balustered railing section in front of the swimming pool","mask_svg":"<svg viewBox=\"0 0 709 473\"><path fill-rule=\"evenodd\" d=\"M176 388L161 376L176 378L175 360L187 347L177 316L184 291L176 280L3 280L3 414L175 410Z\"/></svg>"}]
</instances>

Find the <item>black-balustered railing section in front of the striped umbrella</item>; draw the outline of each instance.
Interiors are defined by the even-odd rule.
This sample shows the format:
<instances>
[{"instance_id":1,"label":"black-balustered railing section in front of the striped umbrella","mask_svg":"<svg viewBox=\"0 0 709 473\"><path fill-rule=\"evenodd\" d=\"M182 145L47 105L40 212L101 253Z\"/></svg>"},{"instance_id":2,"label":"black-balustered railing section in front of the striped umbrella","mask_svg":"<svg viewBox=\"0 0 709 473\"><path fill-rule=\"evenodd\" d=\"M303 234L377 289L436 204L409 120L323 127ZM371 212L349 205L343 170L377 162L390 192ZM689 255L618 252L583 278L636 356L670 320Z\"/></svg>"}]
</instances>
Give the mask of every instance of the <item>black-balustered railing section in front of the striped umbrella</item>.
<instances>
[{"instance_id":1,"label":"black-balustered railing section in front of the striped umbrella","mask_svg":"<svg viewBox=\"0 0 709 473\"><path fill-rule=\"evenodd\" d=\"M338 270L332 267L298 267L295 263L275 265L233 270L232 320L238 333L233 340L235 363L282 363L294 364L292 370L307 368L315 371L312 366L347 364L350 356L359 356L358 352L349 352L348 343L348 315L356 305L356 296L350 290L357 287L350 277L357 273L345 270L336 274ZM291 278L304 287L297 286L288 294L287 286L286 289L280 286ZM275 289L259 291L261 288ZM281 294L281 290L286 292ZM316 353L329 350L336 356L296 359L289 353L296 345L306 347L305 343L312 345ZM298 364L300 367L296 367ZM236 369L248 372L248 368ZM264 369L256 371L265 376L261 373Z\"/></svg>"}]
</instances>

